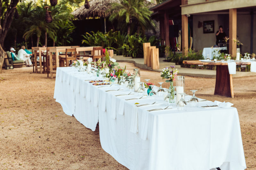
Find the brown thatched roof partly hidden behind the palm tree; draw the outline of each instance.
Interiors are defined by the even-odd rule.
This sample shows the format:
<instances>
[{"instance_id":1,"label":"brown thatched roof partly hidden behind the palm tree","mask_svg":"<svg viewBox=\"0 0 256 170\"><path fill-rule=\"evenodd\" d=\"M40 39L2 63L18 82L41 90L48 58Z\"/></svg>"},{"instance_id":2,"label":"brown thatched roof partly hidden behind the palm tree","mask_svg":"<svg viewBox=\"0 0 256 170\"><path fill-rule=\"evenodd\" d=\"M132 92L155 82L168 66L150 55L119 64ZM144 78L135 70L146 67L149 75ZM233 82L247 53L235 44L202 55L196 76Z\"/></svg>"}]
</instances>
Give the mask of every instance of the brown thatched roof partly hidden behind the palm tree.
<instances>
[{"instance_id":1,"label":"brown thatched roof partly hidden behind the palm tree","mask_svg":"<svg viewBox=\"0 0 256 170\"><path fill-rule=\"evenodd\" d=\"M75 18L77 19L86 19L86 18L105 18L110 15L110 12L106 13L106 11L111 7L112 3L119 3L119 0L90 0L90 8L86 9L83 6L79 7L75 11L72 12ZM145 0L145 3L148 4L148 7L151 8L155 6Z\"/></svg>"}]
</instances>

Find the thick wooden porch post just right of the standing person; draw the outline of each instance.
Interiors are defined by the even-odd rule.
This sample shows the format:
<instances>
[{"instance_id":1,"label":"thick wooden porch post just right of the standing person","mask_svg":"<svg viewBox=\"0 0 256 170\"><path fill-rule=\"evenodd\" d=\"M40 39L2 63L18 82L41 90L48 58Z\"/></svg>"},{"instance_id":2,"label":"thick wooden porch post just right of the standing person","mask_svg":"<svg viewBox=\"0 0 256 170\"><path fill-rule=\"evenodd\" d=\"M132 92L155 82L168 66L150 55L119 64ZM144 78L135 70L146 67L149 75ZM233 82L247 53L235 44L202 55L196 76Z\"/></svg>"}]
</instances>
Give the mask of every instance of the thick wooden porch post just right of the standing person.
<instances>
[{"instance_id":1,"label":"thick wooden porch post just right of the standing person","mask_svg":"<svg viewBox=\"0 0 256 170\"><path fill-rule=\"evenodd\" d=\"M236 57L236 9L229 9L229 54Z\"/></svg>"}]
</instances>

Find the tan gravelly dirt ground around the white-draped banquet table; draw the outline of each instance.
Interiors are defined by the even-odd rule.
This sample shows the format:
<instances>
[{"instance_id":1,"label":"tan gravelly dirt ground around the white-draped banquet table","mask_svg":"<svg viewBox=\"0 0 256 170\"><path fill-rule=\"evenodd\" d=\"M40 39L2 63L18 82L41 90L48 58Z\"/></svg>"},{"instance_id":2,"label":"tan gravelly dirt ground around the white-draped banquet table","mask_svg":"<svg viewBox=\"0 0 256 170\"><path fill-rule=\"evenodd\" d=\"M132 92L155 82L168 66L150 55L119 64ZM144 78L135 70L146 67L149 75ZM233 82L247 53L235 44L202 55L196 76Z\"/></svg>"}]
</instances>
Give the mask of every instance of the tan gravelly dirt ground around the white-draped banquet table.
<instances>
[{"instance_id":1,"label":"tan gravelly dirt ground around the white-draped banquet table","mask_svg":"<svg viewBox=\"0 0 256 170\"><path fill-rule=\"evenodd\" d=\"M164 82L157 72L141 70L141 76ZM101 148L98 126L93 132L63 112L53 99L54 83L31 67L0 73L0 169L127 169ZM215 79L186 76L185 83L188 94L198 89L197 97L234 103L247 169L256 169L256 76L234 78L233 99L213 95Z\"/></svg>"}]
</instances>

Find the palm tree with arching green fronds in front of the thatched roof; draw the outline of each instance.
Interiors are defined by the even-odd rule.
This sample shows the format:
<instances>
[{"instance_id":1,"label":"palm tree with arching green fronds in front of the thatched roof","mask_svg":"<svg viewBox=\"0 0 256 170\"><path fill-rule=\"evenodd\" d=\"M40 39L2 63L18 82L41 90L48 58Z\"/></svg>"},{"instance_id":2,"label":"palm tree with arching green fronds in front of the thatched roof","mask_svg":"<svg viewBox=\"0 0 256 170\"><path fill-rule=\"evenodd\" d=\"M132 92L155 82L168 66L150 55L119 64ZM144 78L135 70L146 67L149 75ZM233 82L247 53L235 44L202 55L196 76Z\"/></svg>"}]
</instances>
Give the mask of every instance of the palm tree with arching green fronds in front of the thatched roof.
<instances>
[{"instance_id":1,"label":"palm tree with arching green fronds in front of the thatched roof","mask_svg":"<svg viewBox=\"0 0 256 170\"><path fill-rule=\"evenodd\" d=\"M121 0L120 3L113 3L111 8L112 14L109 17L111 22L118 20L119 23L126 23L127 34L130 34L132 24L138 26L138 30L141 29L143 32L146 28L152 28L155 25L152 22L147 4L144 0Z\"/></svg>"}]
</instances>

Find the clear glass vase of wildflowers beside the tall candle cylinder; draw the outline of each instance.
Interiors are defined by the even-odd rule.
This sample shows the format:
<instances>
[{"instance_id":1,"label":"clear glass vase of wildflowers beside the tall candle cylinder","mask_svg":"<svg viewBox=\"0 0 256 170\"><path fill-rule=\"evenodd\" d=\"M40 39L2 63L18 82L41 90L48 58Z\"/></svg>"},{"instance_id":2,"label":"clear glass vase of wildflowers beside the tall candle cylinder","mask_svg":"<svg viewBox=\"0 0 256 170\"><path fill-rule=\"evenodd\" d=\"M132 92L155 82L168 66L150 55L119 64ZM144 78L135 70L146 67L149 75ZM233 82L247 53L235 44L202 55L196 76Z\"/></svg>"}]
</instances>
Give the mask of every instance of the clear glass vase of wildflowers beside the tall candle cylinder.
<instances>
[{"instance_id":1,"label":"clear glass vase of wildflowers beside the tall candle cylinder","mask_svg":"<svg viewBox=\"0 0 256 170\"><path fill-rule=\"evenodd\" d=\"M174 103L175 102L175 94L174 94L174 87L173 87L173 81L175 81L175 77L177 76L177 74L179 73L179 71L177 70L173 70L175 66L170 66L170 68L172 68L172 70L169 70L169 67L165 67L162 69L161 72L161 77L163 79L168 79L165 80L165 82L170 82L170 87L169 87L169 91L170 91L170 103Z\"/></svg>"}]
</instances>

